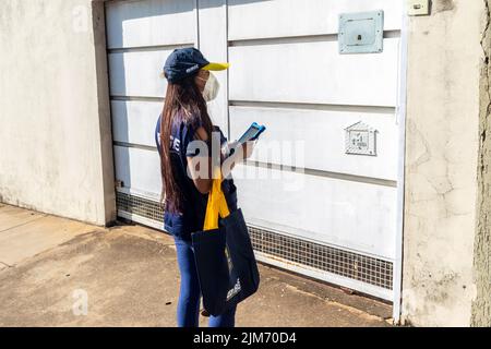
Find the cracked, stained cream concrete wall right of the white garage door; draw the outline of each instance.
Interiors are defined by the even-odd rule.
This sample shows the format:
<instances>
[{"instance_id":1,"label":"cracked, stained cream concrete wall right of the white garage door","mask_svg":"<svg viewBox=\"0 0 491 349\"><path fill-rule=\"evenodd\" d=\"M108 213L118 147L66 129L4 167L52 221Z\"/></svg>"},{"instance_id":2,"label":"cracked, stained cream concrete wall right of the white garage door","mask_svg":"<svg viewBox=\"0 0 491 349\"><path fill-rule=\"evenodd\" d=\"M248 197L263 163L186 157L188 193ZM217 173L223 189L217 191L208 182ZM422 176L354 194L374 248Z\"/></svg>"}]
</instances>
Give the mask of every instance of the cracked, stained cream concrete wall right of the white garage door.
<instances>
[{"instance_id":1,"label":"cracked, stained cream concrete wall right of the white garage door","mask_svg":"<svg viewBox=\"0 0 491 349\"><path fill-rule=\"evenodd\" d=\"M403 322L468 326L474 282L484 1L410 17Z\"/></svg>"}]
</instances>

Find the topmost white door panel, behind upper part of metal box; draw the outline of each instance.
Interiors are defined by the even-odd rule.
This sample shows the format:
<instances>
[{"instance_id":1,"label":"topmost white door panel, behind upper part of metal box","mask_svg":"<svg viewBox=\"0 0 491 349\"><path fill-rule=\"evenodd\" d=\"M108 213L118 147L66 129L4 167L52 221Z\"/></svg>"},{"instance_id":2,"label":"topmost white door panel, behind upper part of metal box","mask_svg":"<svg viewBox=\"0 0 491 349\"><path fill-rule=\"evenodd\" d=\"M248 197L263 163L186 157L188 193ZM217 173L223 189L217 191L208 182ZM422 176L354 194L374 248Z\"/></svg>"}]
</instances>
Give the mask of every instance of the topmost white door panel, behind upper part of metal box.
<instances>
[{"instance_id":1,"label":"topmost white door panel, behind upper part of metal box","mask_svg":"<svg viewBox=\"0 0 491 349\"><path fill-rule=\"evenodd\" d=\"M399 0L228 0L228 39L337 34L340 13L374 10L385 11L385 31L400 29Z\"/></svg>"}]
</instances>

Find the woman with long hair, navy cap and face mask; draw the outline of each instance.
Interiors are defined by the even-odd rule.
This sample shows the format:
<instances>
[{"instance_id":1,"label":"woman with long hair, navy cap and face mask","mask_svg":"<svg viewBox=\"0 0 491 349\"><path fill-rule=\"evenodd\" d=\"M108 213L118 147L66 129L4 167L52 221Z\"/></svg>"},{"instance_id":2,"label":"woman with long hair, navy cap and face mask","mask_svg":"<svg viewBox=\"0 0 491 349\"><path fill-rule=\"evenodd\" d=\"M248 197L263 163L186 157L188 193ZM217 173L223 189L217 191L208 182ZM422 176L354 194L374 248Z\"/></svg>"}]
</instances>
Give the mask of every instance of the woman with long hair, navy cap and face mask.
<instances>
[{"instance_id":1,"label":"woman with long hair, navy cap and face mask","mask_svg":"<svg viewBox=\"0 0 491 349\"><path fill-rule=\"evenodd\" d=\"M199 325L201 291L191 233L203 230L207 193L212 188L211 165L227 156L223 152L218 153L218 159L208 156L213 154L214 132L219 134L220 147L227 148L227 141L213 125L206 108L206 101L218 92L218 83L209 70L227 68L226 63L209 63L194 48L175 50L164 67L168 86L164 111L157 122L156 142L160 153L165 229L175 238L181 276L177 310L179 327ZM205 144L207 152L196 152L196 141L201 141L199 145ZM252 146L240 151L235 152L237 159L250 156ZM200 157L197 165L196 157ZM236 186L229 173L221 176L225 178L221 188L232 212L237 209ZM233 308L220 316L211 316L209 326L232 327L235 313Z\"/></svg>"}]
</instances>

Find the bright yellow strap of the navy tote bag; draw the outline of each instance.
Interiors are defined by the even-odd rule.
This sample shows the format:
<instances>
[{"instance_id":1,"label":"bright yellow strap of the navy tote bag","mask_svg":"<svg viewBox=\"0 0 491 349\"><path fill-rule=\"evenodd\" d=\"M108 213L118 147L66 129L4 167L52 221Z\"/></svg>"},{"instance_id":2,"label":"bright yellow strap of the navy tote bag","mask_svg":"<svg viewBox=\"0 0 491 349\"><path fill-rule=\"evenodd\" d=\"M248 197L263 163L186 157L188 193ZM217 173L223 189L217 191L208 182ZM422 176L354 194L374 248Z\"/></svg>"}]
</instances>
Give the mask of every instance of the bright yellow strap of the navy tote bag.
<instances>
[{"instance_id":1,"label":"bright yellow strap of the navy tote bag","mask_svg":"<svg viewBox=\"0 0 491 349\"><path fill-rule=\"evenodd\" d=\"M221 191L221 171L218 168L218 176L215 176L212 183L212 190L208 193L208 202L206 205L206 215L203 230L218 229L218 217L225 218L230 215L227 200Z\"/></svg>"}]
</instances>

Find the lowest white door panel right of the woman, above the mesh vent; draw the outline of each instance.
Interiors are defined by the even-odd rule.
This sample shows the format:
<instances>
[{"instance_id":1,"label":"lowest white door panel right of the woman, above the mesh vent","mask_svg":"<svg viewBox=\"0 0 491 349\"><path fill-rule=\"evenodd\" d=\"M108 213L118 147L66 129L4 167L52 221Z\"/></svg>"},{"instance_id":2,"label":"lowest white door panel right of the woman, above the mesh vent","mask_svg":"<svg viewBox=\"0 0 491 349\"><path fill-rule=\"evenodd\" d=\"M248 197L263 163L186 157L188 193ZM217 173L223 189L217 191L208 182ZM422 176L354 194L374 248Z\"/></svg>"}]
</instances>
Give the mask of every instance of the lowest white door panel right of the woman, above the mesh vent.
<instances>
[{"instance_id":1,"label":"lowest white door panel right of the woman, above the mesh vent","mask_svg":"<svg viewBox=\"0 0 491 349\"><path fill-rule=\"evenodd\" d=\"M396 188L252 166L235 178L249 222L394 258Z\"/></svg>"}]
</instances>

